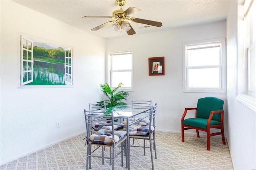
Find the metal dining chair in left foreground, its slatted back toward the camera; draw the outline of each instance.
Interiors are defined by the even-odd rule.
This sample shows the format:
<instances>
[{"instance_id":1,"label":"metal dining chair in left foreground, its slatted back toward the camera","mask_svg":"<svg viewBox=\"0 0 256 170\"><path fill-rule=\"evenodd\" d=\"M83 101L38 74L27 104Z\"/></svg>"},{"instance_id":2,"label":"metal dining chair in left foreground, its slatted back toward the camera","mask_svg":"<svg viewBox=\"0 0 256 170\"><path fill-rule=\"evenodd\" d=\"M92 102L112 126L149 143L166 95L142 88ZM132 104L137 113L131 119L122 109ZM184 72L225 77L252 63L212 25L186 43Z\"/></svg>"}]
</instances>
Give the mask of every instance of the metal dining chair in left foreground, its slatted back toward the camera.
<instances>
[{"instance_id":1,"label":"metal dining chair in left foreground, its slatted back toward the camera","mask_svg":"<svg viewBox=\"0 0 256 170\"><path fill-rule=\"evenodd\" d=\"M121 166L123 166L123 151L126 150L126 131L114 130L116 123L114 121L107 121L107 119L113 120L113 111L86 111L84 110L84 117L86 123L86 170L91 169L91 157L102 158L102 164L104 164L104 158L110 159L112 164L112 170L114 170L114 160L121 154ZM105 126L105 128L98 130L95 133L91 133L92 127ZM92 147L94 146L94 147ZM99 156L96 150L102 147L109 147L111 152L109 155L104 156L104 150ZM112 154L111 154L112 153ZM126 154L127 155L127 154ZM127 166L127 161L126 161Z\"/></svg>"}]
</instances>

